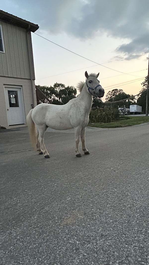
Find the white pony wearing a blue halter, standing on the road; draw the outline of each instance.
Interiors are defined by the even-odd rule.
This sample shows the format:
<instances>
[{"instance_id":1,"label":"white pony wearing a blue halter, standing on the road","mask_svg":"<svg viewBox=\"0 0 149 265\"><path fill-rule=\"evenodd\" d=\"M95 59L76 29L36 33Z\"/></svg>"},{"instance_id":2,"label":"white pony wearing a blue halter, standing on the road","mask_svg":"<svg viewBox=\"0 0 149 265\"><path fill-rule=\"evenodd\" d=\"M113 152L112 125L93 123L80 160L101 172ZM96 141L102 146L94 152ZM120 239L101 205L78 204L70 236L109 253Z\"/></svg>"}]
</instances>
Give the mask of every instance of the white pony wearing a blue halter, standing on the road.
<instances>
[{"instance_id":1,"label":"white pony wearing a blue halter, standing on the road","mask_svg":"<svg viewBox=\"0 0 149 265\"><path fill-rule=\"evenodd\" d=\"M92 106L93 96L102 98L104 89L99 85L98 74L88 75L85 72L86 82L80 82L78 89L80 94L71 99L65 105L41 103L31 109L27 115L30 138L33 146L36 146L39 154L49 158L49 153L44 145L44 134L48 127L55 130L75 129L76 157L81 157L78 149L81 136L82 150L89 154L85 147L85 128L89 122L89 113ZM37 128L37 129L36 129Z\"/></svg>"}]
</instances>

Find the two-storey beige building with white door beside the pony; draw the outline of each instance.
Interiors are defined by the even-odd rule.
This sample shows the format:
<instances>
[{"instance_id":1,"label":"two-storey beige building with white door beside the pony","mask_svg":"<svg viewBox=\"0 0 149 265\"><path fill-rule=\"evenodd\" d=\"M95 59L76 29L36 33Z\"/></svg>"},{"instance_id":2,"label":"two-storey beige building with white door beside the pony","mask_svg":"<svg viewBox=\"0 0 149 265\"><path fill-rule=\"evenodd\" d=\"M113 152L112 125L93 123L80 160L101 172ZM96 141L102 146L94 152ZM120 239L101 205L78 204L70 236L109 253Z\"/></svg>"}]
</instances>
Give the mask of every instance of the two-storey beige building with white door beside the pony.
<instances>
[{"instance_id":1,"label":"two-storey beige building with white door beside the pony","mask_svg":"<svg viewBox=\"0 0 149 265\"><path fill-rule=\"evenodd\" d=\"M0 10L0 126L26 126L37 105L31 32L38 25Z\"/></svg>"}]
</instances>

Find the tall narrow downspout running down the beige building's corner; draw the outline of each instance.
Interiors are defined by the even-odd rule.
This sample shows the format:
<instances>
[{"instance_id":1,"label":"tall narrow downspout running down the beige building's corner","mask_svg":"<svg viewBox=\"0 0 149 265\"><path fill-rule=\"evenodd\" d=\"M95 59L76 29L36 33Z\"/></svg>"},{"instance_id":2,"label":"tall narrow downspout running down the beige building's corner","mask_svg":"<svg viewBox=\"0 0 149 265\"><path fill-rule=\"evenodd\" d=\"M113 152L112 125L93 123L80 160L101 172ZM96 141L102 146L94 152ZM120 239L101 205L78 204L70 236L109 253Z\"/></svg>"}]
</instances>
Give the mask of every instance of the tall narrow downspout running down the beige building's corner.
<instances>
[{"instance_id":1,"label":"tall narrow downspout running down the beige building's corner","mask_svg":"<svg viewBox=\"0 0 149 265\"><path fill-rule=\"evenodd\" d=\"M32 72L32 61L31 61L31 50L30 50L30 38L29 38L29 30L30 25L28 25L27 28L27 45L28 45L28 56L29 56L29 67L30 67L30 81L31 81L31 87L32 87L32 98L33 98L33 108L35 107L35 100L34 100L34 87L33 87L33 72ZM31 104L32 105L32 104Z\"/></svg>"}]
</instances>

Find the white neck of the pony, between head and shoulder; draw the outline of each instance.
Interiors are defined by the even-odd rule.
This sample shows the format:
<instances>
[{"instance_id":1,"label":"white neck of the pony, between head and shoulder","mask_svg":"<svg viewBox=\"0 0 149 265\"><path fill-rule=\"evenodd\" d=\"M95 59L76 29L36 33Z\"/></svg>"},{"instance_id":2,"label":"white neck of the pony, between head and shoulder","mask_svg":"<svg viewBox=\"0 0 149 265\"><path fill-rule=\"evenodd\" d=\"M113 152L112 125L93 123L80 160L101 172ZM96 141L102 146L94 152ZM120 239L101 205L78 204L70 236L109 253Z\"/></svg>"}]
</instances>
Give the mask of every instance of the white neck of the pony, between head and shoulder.
<instances>
[{"instance_id":1,"label":"white neck of the pony, between head and shoulder","mask_svg":"<svg viewBox=\"0 0 149 265\"><path fill-rule=\"evenodd\" d=\"M86 109L90 112L93 102L93 96L87 92L86 84L84 84L80 94L78 95L78 99L85 103Z\"/></svg>"}]
</instances>

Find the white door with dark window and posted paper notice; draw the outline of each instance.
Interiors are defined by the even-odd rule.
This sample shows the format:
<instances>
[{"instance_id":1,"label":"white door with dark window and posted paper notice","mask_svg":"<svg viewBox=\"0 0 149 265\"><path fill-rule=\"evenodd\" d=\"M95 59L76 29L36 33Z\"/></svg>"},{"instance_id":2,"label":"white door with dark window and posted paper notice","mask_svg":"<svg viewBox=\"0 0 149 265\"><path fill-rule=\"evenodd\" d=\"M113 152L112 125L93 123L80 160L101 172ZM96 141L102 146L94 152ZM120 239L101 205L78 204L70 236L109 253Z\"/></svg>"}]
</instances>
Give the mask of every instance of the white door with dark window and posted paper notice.
<instances>
[{"instance_id":1,"label":"white door with dark window and posted paper notice","mask_svg":"<svg viewBox=\"0 0 149 265\"><path fill-rule=\"evenodd\" d=\"M25 124L23 94L21 87L5 87L8 125Z\"/></svg>"}]
</instances>

